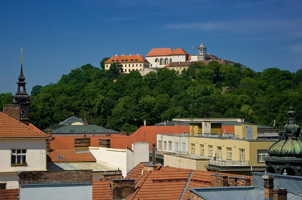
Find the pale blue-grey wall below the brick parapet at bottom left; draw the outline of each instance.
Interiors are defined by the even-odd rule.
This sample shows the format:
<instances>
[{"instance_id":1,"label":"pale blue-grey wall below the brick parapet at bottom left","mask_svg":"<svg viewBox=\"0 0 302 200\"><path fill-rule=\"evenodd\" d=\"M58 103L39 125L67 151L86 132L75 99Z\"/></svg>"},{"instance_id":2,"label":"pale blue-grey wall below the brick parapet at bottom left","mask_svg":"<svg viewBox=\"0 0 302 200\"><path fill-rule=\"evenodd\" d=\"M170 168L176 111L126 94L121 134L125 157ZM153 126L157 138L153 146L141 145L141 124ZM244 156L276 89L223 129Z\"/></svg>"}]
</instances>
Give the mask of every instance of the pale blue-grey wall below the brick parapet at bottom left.
<instances>
[{"instance_id":1,"label":"pale blue-grey wall below the brick parapet at bottom left","mask_svg":"<svg viewBox=\"0 0 302 200\"><path fill-rule=\"evenodd\" d=\"M92 200L92 183L20 185L20 199Z\"/></svg>"}]
</instances>

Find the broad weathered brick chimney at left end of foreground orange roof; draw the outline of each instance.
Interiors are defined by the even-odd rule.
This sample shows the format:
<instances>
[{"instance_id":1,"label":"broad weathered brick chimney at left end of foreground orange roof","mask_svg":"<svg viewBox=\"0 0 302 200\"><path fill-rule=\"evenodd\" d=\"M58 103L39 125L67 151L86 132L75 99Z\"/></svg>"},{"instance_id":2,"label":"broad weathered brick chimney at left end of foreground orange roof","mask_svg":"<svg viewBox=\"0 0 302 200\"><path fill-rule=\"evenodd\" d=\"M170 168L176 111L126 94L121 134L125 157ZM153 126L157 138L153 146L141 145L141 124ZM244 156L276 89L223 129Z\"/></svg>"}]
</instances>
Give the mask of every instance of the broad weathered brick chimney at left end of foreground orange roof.
<instances>
[{"instance_id":1,"label":"broad weathered brick chimney at left end of foreground orange roof","mask_svg":"<svg viewBox=\"0 0 302 200\"><path fill-rule=\"evenodd\" d=\"M135 190L135 179L112 179L112 199L125 199Z\"/></svg>"}]
</instances>

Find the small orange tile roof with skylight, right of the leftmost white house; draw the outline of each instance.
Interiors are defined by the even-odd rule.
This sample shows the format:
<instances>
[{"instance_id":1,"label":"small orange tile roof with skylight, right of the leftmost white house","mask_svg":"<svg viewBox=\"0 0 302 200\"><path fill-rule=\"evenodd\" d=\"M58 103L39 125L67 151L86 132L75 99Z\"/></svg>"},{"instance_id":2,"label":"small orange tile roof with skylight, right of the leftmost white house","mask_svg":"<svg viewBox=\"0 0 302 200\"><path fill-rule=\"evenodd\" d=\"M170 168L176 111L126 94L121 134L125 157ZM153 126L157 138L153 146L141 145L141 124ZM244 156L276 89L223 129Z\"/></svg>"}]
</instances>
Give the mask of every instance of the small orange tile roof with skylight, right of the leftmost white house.
<instances>
[{"instance_id":1,"label":"small orange tile roof with skylight, right of the leftmost white house","mask_svg":"<svg viewBox=\"0 0 302 200\"><path fill-rule=\"evenodd\" d=\"M57 156L62 156L58 159ZM50 162L96 162L91 152L75 152L74 150L55 150L49 152Z\"/></svg>"}]
</instances>

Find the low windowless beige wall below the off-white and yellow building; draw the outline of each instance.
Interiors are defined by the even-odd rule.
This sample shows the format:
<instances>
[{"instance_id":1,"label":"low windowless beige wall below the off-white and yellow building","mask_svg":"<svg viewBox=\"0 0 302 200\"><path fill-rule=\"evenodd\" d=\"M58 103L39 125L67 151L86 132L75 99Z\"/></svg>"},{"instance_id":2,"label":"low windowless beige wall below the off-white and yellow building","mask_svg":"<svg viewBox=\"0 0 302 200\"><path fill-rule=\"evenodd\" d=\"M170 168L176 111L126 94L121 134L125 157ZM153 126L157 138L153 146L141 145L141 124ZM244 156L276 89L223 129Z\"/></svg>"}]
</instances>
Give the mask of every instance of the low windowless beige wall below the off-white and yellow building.
<instances>
[{"instance_id":1,"label":"low windowless beige wall below the off-white and yellow building","mask_svg":"<svg viewBox=\"0 0 302 200\"><path fill-rule=\"evenodd\" d=\"M165 166L206 171L209 159L164 154Z\"/></svg>"}]
</instances>

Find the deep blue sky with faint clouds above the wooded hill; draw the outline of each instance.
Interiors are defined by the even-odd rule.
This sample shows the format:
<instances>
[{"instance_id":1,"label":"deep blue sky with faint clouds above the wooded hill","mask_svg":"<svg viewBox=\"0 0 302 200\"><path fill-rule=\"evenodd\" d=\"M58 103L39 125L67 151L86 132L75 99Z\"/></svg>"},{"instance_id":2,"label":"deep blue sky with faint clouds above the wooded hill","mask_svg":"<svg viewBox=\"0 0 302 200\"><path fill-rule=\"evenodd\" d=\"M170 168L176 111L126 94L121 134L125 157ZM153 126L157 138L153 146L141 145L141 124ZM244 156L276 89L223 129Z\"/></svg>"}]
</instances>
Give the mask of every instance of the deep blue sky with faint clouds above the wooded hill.
<instances>
[{"instance_id":1,"label":"deep blue sky with faint clouds above the wooded hill","mask_svg":"<svg viewBox=\"0 0 302 200\"><path fill-rule=\"evenodd\" d=\"M302 68L301 0L0 1L0 93L27 91L113 54L183 48L253 70ZM193 53L196 53L193 52Z\"/></svg>"}]
</instances>

